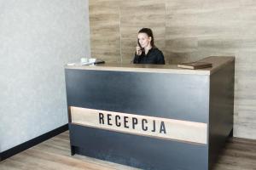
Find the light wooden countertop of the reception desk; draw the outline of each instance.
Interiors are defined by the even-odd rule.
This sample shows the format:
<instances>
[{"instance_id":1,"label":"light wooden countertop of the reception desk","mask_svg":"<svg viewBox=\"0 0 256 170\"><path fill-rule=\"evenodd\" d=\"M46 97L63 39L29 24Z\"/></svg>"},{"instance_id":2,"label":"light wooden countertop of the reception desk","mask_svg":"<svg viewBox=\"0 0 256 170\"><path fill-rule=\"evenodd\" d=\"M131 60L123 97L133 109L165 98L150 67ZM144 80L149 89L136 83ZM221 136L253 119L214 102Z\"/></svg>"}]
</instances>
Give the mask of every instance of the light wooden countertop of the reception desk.
<instances>
[{"instance_id":1,"label":"light wooden countertop of the reception desk","mask_svg":"<svg viewBox=\"0 0 256 170\"><path fill-rule=\"evenodd\" d=\"M211 68L190 70L178 68L177 65L142 65L142 64L99 64L99 65L65 65L65 69L93 70L93 71L134 71L173 74L211 75L224 65L235 60L234 56L211 56L199 61L212 63Z\"/></svg>"}]
</instances>

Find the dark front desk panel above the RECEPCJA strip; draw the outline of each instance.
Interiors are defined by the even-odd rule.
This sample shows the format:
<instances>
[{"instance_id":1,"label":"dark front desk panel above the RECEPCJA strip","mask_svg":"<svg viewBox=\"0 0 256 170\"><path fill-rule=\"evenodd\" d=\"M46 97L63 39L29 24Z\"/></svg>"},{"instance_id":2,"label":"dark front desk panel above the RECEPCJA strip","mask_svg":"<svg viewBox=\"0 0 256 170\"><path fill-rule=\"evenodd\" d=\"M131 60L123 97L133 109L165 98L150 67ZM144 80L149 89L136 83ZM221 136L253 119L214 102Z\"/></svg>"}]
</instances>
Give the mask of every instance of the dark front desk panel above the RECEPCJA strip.
<instances>
[{"instance_id":1,"label":"dark front desk panel above the RECEPCJA strip","mask_svg":"<svg viewBox=\"0 0 256 170\"><path fill-rule=\"evenodd\" d=\"M209 76L65 71L69 106L208 122Z\"/></svg>"}]
</instances>

